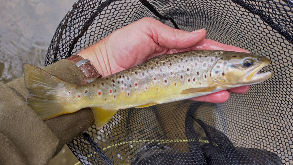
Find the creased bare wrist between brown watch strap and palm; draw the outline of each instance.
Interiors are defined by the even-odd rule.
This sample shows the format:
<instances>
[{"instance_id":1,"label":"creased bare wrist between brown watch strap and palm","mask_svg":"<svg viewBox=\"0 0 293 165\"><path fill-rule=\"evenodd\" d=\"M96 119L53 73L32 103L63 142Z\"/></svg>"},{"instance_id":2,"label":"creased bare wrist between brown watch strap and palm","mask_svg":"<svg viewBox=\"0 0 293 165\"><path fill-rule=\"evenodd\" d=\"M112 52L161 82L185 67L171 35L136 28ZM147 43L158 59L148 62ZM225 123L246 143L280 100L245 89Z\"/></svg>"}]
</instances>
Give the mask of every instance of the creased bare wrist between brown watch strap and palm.
<instances>
[{"instance_id":1,"label":"creased bare wrist between brown watch strap and palm","mask_svg":"<svg viewBox=\"0 0 293 165\"><path fill-rule=\"evenodd\" d=\"M98 43L82 50L78 55L84 59L90 60L98 73L105 77L112 73L105 45L101 44L101 42L102 41L99 41Z\"/></svg>"}]
</instances>

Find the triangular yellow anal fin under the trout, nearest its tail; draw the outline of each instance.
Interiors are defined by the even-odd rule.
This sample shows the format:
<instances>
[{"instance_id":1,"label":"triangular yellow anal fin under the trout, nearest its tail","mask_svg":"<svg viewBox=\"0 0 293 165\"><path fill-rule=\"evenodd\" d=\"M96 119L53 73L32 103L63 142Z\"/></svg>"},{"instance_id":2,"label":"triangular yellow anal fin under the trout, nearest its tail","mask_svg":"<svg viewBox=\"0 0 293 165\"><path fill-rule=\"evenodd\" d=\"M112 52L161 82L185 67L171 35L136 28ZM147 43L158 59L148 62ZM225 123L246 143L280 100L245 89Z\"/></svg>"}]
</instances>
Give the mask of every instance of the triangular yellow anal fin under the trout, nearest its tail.
<instances>
[{"instance_id":1,"label":"triangular yellow anal fin under the trout, nearest its tail","mask_svg":"<svg viewBox=\"0 0 293 165\"><path fill-rule=\"evenodd\" d=\"M91 107L93 115L95 117L96 127L102 128L118 110L105 110L100 107Z\"/></svg>"}]
</instances>

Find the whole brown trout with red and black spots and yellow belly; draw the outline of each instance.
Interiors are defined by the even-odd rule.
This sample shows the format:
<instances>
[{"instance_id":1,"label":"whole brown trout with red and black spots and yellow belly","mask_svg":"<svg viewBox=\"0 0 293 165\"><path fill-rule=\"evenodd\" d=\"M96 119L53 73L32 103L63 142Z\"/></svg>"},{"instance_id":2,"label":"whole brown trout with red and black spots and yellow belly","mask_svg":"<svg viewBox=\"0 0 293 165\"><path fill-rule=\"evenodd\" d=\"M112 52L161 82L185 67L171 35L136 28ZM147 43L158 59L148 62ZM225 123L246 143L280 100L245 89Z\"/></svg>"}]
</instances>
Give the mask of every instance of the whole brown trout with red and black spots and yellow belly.
<instances>
[{"instance_id":1,"label":"whole brown trout with red and black spots and yellow belly","mask_svg":"<svg viewBox=\"0 0 293 165\"><path fill-rule=\"evenodd\" d=\"M43 119L93 110L101 128L117 110L148 107L260 83L272 73L258 73L268 58L222 50L195 50L160 55L103 78L77 86L30 64L24 64L28 105Z\"/></svg>"}]
</instances>

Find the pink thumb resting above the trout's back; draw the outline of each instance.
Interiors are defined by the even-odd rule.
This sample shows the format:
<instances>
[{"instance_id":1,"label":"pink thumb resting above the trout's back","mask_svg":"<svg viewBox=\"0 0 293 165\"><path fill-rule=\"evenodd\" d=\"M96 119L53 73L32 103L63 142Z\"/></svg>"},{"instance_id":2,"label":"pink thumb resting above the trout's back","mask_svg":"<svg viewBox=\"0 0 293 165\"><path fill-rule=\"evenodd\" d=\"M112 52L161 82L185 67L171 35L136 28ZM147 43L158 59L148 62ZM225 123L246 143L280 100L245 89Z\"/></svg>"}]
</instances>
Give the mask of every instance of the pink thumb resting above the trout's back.
<instances>
[{"instance_id":1,"label":"pink thumb resting above the trout's back","mask_svg":"<svg viewBox=\"0 0 293 165\"><path fill-rule=\"evenodd\" d=\"M170 49L185 49L201 42L207 35L205 29L199 29L193 32L182 31L171 28L160 21L148 24L152 33L150 36L155 43L162 47Z\"/></svg>"}]
</instances>

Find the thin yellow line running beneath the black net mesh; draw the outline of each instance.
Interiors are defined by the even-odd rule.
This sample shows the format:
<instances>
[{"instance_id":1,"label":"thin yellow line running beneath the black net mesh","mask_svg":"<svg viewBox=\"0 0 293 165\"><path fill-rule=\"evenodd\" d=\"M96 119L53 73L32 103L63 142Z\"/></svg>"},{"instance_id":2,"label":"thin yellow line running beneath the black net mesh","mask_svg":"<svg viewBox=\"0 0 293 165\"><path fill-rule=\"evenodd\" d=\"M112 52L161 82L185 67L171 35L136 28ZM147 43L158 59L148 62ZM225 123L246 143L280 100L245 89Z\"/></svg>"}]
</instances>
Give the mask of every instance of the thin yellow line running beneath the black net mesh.
<instances>
[{"instance_id":1,"label":"thin yellow line running beneath the black net mesh","mask_svg":"<svg viewBox=\"0 0 293 165\"><path fill-rule=\"evenodd\" d=\"M190 139L190 140L188 140L188 139L184 139L184 140L180 140L180 139L175 139L175 140L172 140L172 139L157 139L157 140L154 140L154 139L152 139L152 140L150 140L150 139L145 139L145 140L133 140L133 141L130 141L130 142L121 142L121 143L115 144L114 146L110 145L110 146L108 146L108 147L104 147L104 148L103 148L103 151L105 151L106 149L110 149L110 148L112 148L112 147L121 146L121 145L123 145L123 144L128 144L128 143L132 144L132 143L137 143L137 142L159 142L158 145L160 145L160 144L165 144L165 143L172 143L172 142L188 142L188 141L190 142L190 141L195 141L195 140L192 140L192 139ZM208 140L202 140L202 139L199 139L199 142L209 143ZM215 145L215 146L218 146L218 145L215 144L215 143L214 143L214 145ZM94 154L96 154L96 152L94 152ZM90 156L93 156L93 154L88 155L88 157L90 157ZM77 162L77 163L74 164L74 165L78 165L78 164L80 164L80 163L81 163L81 162L79 161L79 162Z\"/></svg>"}]
</instances>

